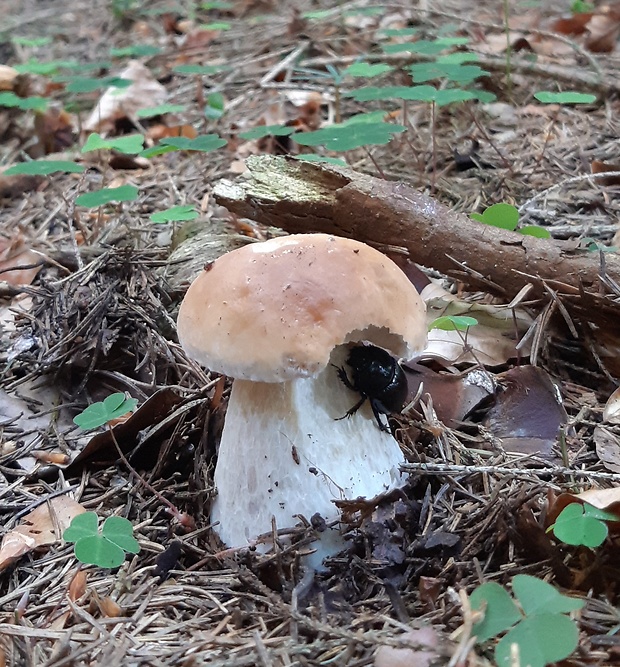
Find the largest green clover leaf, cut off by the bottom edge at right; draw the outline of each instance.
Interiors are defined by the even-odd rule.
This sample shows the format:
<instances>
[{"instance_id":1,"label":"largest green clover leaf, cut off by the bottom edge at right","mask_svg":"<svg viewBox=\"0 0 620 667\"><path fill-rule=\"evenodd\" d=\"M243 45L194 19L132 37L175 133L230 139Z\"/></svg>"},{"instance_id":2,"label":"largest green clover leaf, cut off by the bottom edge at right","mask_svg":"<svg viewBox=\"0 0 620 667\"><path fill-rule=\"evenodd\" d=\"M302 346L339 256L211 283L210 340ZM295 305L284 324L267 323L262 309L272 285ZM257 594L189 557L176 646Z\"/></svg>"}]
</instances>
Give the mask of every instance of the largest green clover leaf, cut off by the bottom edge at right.
<instances>
[{"instance_id":1,"label":"largest green clover leaf, cut off by the bottom edge at right","mask_svg":"<svg viewBox=\"0 0 620 667\"><path fill-rule=\"evenodd\" d=\"M567 614L581 609L583 600L562 595L527 574L513 578L512 590L519 605L495 582L482 584L471 594L472 609L484 610L484 618L472 630L478 643L506 632L495 647L499 667L514 664L513 645L520 665L544 667L567 658L579 639L577 626Z\"/></svg>"}]
</instances>

